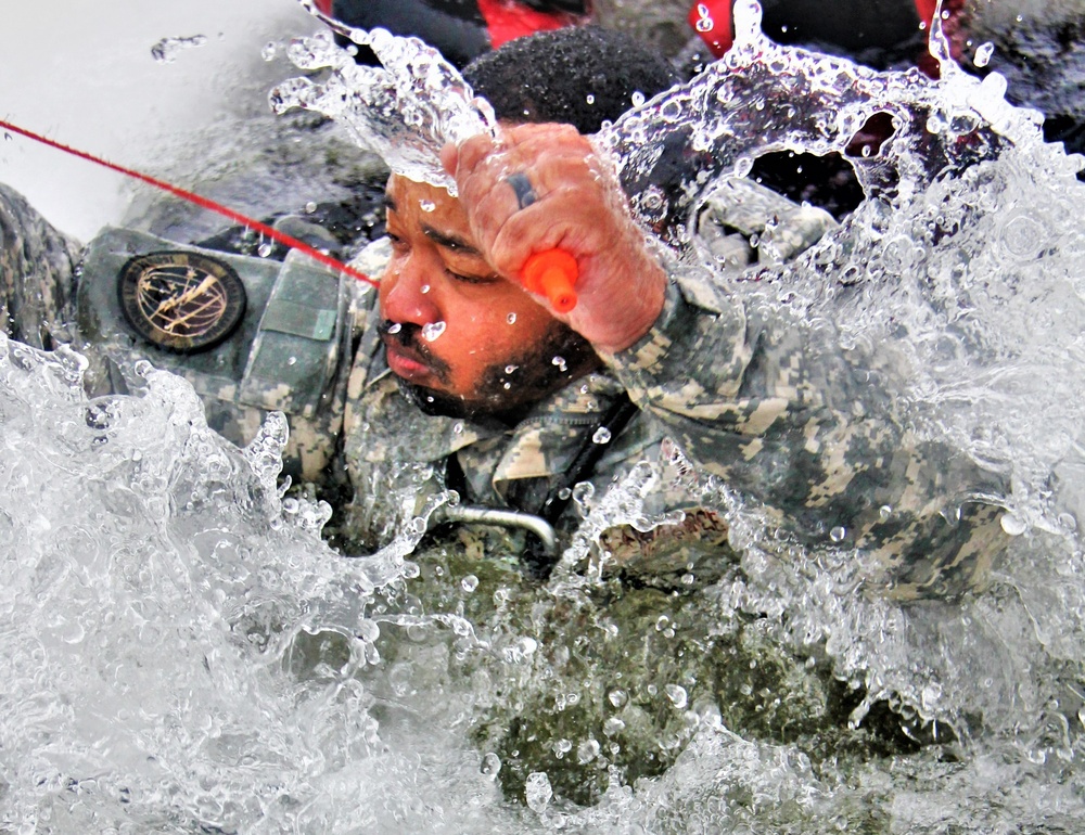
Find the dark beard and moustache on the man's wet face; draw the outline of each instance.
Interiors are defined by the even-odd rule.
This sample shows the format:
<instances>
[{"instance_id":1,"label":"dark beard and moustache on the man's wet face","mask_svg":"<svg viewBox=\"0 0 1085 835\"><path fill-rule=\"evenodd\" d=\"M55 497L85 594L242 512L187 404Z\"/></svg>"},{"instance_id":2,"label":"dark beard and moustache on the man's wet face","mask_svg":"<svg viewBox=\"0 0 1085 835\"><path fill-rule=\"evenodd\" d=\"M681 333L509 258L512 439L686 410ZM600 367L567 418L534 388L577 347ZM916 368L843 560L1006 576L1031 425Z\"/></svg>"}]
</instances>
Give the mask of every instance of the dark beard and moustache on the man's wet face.
<instances>
[{"instance_id":1,"label":"dark beard and moustache on the man's wet face","mask_svg":"<svg viewBox=\"0 0 1085 835\"><path fill-rule=\"evenodd\" d=\"M386 324L382 323L382 331L386 332ZM404 324L395 336L418 350L421 341L409 329L420 330ZM514 426L544 397L599 365L591 344L569 325L554 321L537 345L486 369L473 397L447 395L399 376L396 383L404 397L424 414ZM507 371L511 367L515 370Z\"/></svg>"}]
</instances>

